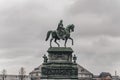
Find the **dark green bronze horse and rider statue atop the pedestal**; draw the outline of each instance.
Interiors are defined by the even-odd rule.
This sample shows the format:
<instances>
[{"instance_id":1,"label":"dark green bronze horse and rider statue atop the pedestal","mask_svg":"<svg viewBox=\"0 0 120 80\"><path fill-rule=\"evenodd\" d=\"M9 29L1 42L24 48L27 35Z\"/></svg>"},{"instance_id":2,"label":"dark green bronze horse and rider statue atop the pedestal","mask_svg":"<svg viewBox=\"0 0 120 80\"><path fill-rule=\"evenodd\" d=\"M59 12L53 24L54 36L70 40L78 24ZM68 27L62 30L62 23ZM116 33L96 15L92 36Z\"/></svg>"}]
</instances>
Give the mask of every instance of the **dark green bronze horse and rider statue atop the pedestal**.
<instances>
[{"instance_id":1,"label":"dark green bronze horse and rider statue atop the pedestal","mask_svg":"<svg viewBox=\"0 0 120 80\"><path fill-rule=\"evenodd\" d=\"M50 47L52 47L51 43L53 40L58 45L58 47L60 47L59 43L57 42L57 40L60 39L65 41L64 43L65 47L68 39L72 40L72 45L73 45L73 39L70 37L70 33L74 32L74 27L75 27L74 24L69 24L68 26L66 26L66 28L64 28L63 20L60 20L60 22L58 23L57 30L50 30L47 32L46 41L49 39L51 35L52 38L50 39Z\"/></svg>"}]
</instances>

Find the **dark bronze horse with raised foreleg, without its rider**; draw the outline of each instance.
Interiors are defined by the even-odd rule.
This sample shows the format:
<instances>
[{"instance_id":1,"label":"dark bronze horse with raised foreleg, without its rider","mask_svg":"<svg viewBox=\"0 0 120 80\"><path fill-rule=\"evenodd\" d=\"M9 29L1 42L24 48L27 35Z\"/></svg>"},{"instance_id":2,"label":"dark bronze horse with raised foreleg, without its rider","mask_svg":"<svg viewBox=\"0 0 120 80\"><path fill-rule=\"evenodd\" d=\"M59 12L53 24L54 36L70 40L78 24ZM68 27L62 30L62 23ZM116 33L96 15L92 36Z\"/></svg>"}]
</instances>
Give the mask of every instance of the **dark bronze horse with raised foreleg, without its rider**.
<instances>
[{"instance_id":1,"label":"dark bronze horse with raised foreleg, without its rider","mask_svg":"<svg viewBox=\"0 0 120 80\"><path fill-rule=\"evenodd\" d=\"M71 25L68 25L68 26L65 28L65 30L64 30L65 32L64 32L64 34L63 34L64 39L62 39L62 38L58 35L57 30L54 30L54 31L50 30L50 31L47 32L46 41L49 39L50 35L52 35L52 38L50 39L50 47L52 47L51 43L52 43L52 40L53 40L53 39L54 39L54 42L58 45L58 47L60 47L60 45L59 45L59 43L57 42L57 40L60 40L60 39L65 40L65 43L64 43L64 46L65 46L65 47L66 47L66 43L67 43L67 40L68 40L68 39L72 40L72 45L73 45L73 39L70 37L70 33L71 33L71 32L74 32L74 27L75 27L75 26L74 26L73 24L71 24Z\"/></svg>"}]
</instances>

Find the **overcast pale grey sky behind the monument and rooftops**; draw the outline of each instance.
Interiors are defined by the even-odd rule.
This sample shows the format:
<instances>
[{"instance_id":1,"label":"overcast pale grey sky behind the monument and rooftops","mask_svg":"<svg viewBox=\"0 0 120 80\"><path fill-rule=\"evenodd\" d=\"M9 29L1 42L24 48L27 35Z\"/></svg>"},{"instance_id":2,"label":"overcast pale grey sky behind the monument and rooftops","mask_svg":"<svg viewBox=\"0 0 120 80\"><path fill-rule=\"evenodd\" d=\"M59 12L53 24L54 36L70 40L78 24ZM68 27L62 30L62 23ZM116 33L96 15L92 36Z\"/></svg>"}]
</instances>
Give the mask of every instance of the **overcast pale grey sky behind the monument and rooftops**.
<instances>
[{"instance_id":1,"label":"overcast pale grey sky behind the monument and rooftops","mask_svg":"<svg viewBox=\"0 0 120 80\"><path fill-rule=\"evenodd\" d=\"M63 19L64 26L75 25L72 48L81 66L120 75L119 15L120 0L0 0L0 71L38 67L49 48L47 31Z\"/></svg>"}]
</instances>

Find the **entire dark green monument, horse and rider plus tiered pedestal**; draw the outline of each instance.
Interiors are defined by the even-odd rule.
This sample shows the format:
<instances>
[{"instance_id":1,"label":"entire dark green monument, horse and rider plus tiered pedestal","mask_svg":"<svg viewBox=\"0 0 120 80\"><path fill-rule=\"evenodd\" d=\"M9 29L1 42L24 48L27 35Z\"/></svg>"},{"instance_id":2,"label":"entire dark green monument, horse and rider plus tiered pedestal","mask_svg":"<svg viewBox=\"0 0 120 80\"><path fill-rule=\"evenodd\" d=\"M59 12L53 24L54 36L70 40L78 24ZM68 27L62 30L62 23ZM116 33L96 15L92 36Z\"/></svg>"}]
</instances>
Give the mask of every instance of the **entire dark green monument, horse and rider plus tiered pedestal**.
<instances>
[{"instance_id":1,"label":"entire dark green monument, horse and rider plus tiered pedestal","mask_svg":"<svg viewBox=\"0 0 120 80\"><path fill-rule=\"evenodd\" d=\"M50 35L50 48L47 50L48 56L43 56L43 64L41 65L41 80L78 80L78 67L76 63L77 57L72 56L73 50L71 47L66 47L68 39L73 39L70 37L71 32L74 31L74 25L70 24L66 28L63 26L63 20L60 20L58 27L54 31L48 31L46 41L49 39ZM58 47L52 47L52 40L58 45ZM57 40L64 40L65 47L60 47ZM37 71L37 70L36 70ZM35 80L38 80L35 78Z\"/></svg>"}]
</instances>

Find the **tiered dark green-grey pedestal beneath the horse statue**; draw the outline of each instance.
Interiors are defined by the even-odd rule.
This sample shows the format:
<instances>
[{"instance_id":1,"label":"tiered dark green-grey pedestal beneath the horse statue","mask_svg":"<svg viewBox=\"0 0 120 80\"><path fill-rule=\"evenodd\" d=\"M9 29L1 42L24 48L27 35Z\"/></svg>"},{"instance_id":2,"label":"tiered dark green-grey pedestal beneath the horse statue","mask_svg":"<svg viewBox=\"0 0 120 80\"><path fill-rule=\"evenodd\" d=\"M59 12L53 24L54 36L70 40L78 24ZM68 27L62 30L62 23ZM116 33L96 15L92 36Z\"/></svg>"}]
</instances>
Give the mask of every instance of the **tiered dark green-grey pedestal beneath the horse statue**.
<instances>
[{"instance_id":1,"label":"tiered dark green-grey pedestal beneath the horse statue","mask_svg":"<svg viewBox=\"0 0 120 80\"><path fill-rule=\"evenodd\" d=\"M41 67L42 80L77 80L77 64L72 62L73 50L68 47L48 49L48 61Z\"/></svg>"}]
</instances>

